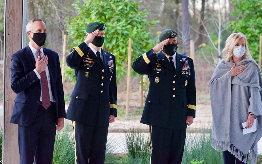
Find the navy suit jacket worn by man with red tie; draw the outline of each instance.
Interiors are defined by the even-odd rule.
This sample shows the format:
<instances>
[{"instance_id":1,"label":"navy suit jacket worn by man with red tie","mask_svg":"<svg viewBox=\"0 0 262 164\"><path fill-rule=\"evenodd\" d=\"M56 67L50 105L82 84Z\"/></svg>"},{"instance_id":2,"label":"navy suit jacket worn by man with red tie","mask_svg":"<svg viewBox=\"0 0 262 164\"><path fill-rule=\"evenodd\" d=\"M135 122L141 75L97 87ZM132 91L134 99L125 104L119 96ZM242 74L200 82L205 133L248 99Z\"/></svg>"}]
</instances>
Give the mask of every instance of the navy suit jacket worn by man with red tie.
<instances>
[{"instance_id":1,"label":"navy suit jacket worn by man with red tie","mask_svg":"<svg viewBox=\"0 0 262 164\"><path fill-rule=\"evenodd\" d=\"M56 102L56 124L58 118L65 118L64 91L58 54L43 48L48 56L48 70L50 74L51 90ZM11 56L11 88L17 94L11 123L29 126L36 118L41 86L40 80L34 72L35 58L29 46L17 51Z\"/></svg>"}]
</instances>

